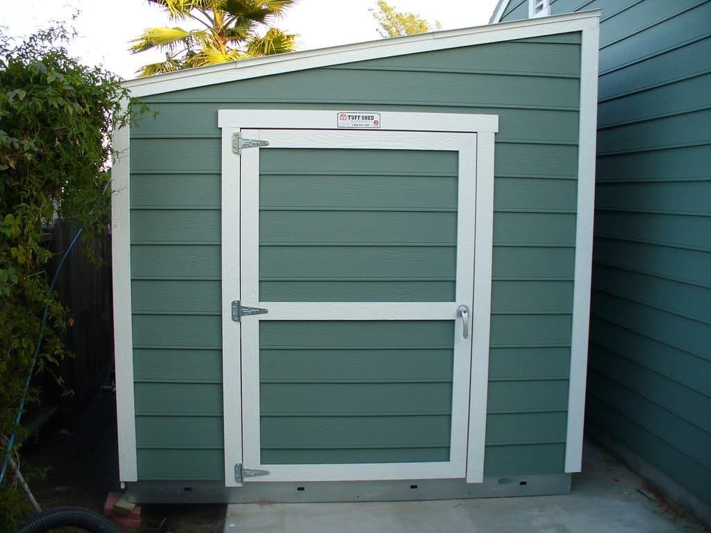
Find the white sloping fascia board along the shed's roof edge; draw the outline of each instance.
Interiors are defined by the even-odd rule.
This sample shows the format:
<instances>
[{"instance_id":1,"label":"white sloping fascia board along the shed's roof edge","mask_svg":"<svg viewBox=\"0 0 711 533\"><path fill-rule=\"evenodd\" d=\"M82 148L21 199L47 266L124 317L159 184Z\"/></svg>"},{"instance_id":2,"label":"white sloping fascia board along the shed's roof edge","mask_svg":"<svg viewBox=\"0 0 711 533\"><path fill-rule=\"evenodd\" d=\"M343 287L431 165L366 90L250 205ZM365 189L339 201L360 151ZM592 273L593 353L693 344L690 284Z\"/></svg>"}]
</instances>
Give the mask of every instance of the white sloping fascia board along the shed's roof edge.
<instances>
[{"instance_id":1,"label":"white sloping fascia board along the shed's roof edge","mask_svg":"<svg viewBox=\"0 0 711 533\"><path fill-rule=\"evenodd\" d=\"M253 58L208 67L191 68L155 76L141 77L123 83L134 97L159 95L164 92L192 89L254 77L283 74L297 70L341 65L412 53L445 50L462 46L512 41L555 33L581 31L587 21L598 18L599 10L564 14L477 26L449 31L434 31L419 35L381 39L367 43L305 50L264 58Z\"/></svg>"}]
</instances>

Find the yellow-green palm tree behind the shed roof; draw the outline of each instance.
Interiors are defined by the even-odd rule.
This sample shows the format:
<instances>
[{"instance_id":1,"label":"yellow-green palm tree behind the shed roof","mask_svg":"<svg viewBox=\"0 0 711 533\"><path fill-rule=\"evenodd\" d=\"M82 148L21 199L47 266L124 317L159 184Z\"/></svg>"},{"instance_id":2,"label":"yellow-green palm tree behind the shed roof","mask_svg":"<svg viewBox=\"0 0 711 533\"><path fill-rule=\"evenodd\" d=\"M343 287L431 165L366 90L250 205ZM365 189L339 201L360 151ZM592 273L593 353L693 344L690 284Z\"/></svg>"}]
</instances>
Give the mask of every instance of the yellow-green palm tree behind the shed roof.
<instances>
[{"instance_id":1,"label":"yellow-green palm tree behind the shed roof","mask_svg":"<svg viewBox=\"0 0 711 533\"><path fill-rule=\"evenodd\" d=\"M214 65L260 55L292 52L296 35L269 27L294 0L148 0L168 12L173 21L192 21L198 29L146 28L132 53L158 48L161 63L139 70L139 76ZM257 33L267 27L262 36Z\"/></svg>"}]
</instances>

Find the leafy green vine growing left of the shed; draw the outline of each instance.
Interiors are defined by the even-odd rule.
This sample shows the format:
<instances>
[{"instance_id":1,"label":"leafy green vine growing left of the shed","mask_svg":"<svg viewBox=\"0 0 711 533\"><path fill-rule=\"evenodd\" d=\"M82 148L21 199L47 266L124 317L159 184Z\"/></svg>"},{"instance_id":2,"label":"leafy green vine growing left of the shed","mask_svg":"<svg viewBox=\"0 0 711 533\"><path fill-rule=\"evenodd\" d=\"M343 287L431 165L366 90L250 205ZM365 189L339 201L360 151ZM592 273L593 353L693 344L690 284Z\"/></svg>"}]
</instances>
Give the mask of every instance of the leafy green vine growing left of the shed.
<instances>
[{"instance_id":1,"label":"leafy green vine growing left of the shed","mask_svg":"<svg viewBox=\"0 0 711 533\"><path fill-rule=\"evenodd\" d=\"M130 119L119 78L70 58L67 37L53 28L13 45L0 32L0 436L8 438L45 306L49 320L36 369L65 355L66 310L49 290L45 229L56 215L89 237L105 232L109 139ZM0 461L5 452L2 444ZM14 520L13 502L20 499L9 496L11 478L0 516Z\"/></svg>"}]
</instances>

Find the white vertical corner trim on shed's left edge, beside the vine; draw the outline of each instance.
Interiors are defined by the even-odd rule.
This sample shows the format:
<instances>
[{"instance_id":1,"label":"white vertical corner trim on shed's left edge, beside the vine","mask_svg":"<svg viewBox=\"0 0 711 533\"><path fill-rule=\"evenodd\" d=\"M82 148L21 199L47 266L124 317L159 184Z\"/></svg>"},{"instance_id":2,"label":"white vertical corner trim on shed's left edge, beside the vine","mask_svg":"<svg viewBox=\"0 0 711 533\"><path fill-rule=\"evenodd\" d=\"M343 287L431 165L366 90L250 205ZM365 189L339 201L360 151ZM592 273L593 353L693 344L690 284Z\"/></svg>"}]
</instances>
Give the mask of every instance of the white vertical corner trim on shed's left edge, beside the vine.
<instances>
[{"instance_id":1,"label":"white vertical corner trim on shed's left edge, beside the vine","mask_svg":"<svg viewBox=\"0 0 711 533\"><path fill-rule=\"evenodd\" d=\"M127 109L128 102L122 102ZM119 438L119 480L137 481L136 409L134 406L131 325L131 242L129 202L129 126L114 131L118 155L111 169L111 254L114 297L114 367Z\"/></svg>"}]
</instances>

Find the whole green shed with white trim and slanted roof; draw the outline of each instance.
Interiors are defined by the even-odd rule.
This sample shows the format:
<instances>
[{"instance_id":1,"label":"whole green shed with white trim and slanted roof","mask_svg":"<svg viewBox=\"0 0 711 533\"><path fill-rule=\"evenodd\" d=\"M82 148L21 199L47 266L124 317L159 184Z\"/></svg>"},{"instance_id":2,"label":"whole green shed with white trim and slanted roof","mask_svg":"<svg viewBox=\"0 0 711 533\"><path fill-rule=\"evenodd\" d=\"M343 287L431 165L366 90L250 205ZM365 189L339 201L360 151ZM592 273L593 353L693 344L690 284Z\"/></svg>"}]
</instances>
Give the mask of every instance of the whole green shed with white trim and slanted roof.
<instances>
[{"instance_id":1,"label":"whole green shed with white trim and slanted roof","mask_svg":"<svg viewBox=\"0 0 711 533\"><path fill-rule=\"evenodd\" d=\"M141 502L557 494L581 468L598 14L125 83Z\"/></svg>"}]
</instances>

